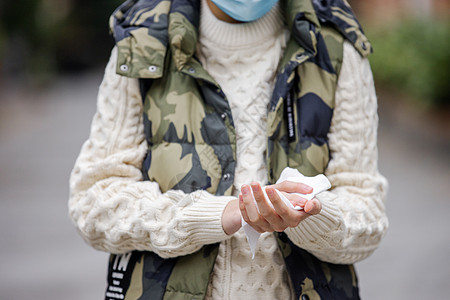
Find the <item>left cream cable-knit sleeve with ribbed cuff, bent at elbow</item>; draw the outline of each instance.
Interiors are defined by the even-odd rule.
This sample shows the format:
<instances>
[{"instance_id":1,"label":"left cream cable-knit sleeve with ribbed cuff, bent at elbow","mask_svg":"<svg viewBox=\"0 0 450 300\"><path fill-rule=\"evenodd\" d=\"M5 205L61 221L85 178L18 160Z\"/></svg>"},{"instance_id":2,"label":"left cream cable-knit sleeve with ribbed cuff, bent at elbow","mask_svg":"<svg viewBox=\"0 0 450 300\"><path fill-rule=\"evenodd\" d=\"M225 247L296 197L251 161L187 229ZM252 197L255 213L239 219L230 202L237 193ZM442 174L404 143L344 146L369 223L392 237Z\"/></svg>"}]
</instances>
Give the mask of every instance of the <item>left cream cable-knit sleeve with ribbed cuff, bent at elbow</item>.
<instances>
[{"instance_id":1,"label":"left cream cable-knit sleeve with ribbed cuff, bent at elbow","mask_svg":"<svg viewBox=\"0 0 450 300\"><path fill-rule=\"evenodd\" d=\"M174 257L223 241L222 211L233 197L162 194L157 183L142 181L142 101L137 80L115 73L116 57L115 48L90 137L72 171L71 218L88 243L112 253L137 249Z\"/></svg>"}]
</instances>

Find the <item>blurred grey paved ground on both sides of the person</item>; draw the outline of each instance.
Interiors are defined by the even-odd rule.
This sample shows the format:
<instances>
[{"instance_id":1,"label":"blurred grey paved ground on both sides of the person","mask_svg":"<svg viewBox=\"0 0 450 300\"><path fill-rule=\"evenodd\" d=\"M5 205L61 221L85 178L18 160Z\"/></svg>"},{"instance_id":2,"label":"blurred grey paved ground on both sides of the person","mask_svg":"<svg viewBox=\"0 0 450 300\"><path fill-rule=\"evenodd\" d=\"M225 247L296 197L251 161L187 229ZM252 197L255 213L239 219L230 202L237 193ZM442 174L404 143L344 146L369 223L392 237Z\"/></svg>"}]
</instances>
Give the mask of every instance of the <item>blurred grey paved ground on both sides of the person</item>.
<instances>
[{"instance_id":1,"label":"blurred grey paved ground on both sides of the person","mask_svg":"<svg viewBox=\"0 0 450 300\"><path fill-rule=\"evenodd\" d=\"M0 92L0 299L102 299L107 255L83 243L66 208L100 79ZM379 250L357 264L361 295L448 299L450 141L417 122L399 125L388 108L381 106L379 150L391 227Z\"/></svg>"}]
</instances>

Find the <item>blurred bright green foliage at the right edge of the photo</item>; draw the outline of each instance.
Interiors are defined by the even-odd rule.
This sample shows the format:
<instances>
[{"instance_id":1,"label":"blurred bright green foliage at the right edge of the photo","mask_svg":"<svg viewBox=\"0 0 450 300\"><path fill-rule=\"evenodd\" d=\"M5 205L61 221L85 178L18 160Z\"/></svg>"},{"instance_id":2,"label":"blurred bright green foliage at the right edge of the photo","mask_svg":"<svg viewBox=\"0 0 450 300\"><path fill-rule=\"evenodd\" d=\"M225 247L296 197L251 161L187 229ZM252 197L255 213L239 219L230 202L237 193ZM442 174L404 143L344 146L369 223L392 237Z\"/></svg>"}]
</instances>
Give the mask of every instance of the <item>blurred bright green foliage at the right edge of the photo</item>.
<instances>
[{"instance_id":1,"label":"blurred bright green foliage at the right edge of the photo","mask_svg":"<svg viewBox=\"0 0 450 300\"><path fill-rule=\"evenodd\" d=\"M450 22L402 20L373 28L371 66L377 83L411 96L424 107L450 106Z\"/></svg>"}]
</instances>

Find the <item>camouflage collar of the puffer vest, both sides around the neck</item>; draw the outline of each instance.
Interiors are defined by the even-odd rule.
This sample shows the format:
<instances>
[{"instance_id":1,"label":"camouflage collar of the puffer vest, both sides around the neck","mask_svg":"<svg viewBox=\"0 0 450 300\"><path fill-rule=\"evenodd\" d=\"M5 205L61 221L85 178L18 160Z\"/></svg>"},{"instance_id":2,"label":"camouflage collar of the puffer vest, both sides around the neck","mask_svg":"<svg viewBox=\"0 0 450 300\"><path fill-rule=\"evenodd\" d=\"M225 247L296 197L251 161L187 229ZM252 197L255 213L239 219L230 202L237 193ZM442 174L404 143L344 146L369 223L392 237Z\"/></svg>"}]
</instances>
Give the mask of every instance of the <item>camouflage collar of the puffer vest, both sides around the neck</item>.
<instances>
[{"instance_id":1,"label":"camouflage collar of the puffer vest, both sides around the neck","mask_svg":"<svg viewBox=\"0 0 450 300\"><path fill-rule=\"evenodd\" d=\"M169 47L177 69L189 69L198 39L199 5L200 1L128 0L119 6L110 18L119 50L117 73L160 78ZM280 5L291 31L285 63L301 63L317 54L320 22L334 25L361 55L371 52L370 43L345 0L281 0Z\"/></svg>"}]
</instances>

